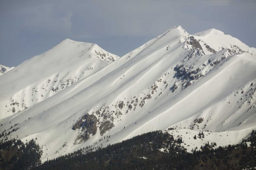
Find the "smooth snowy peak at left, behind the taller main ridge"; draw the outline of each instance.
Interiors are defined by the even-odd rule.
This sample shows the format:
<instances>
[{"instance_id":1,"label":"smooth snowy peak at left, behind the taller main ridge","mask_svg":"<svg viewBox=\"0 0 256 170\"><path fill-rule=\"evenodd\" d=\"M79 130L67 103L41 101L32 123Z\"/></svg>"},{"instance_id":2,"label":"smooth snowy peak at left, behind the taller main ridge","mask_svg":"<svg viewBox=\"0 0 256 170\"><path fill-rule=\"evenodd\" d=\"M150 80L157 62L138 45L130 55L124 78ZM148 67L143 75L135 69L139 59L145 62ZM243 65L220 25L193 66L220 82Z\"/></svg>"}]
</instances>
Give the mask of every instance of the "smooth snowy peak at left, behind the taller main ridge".
<instances>
[{"instance_id":1,"label":"smooth snowy peak at left, behind the taller main ridge","mask_svg":"<svg viewBox=\"0 0 256 170\"><path fill-rule=\"evenodd\" d=\"M0 118L55 95L118 58L96 44L65 39L0 77Z\"/></svg>"}]
</instances>

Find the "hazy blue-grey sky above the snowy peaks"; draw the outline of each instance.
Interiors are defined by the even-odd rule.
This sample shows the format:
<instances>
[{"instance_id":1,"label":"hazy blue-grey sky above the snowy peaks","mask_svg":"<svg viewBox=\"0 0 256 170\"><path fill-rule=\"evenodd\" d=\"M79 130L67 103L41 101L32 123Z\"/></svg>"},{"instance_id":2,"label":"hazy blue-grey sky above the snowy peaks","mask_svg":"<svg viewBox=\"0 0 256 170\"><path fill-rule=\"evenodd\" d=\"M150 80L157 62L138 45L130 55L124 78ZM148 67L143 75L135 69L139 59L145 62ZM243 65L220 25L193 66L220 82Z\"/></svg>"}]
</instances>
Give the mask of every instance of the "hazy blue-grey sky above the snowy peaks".
<instances>
[{"instance_id":1,"label":"hazy blue-grey sky above the snowy peaks","mask_svg":"<svg viewBox=\"0 0 256 170\"><path fill-rule=\"evenodd\" d=\"M66 38L123 56L178 25L256 47L256 0L1 0L0 64L17 66Z\"/></svg>"}]
</instances>

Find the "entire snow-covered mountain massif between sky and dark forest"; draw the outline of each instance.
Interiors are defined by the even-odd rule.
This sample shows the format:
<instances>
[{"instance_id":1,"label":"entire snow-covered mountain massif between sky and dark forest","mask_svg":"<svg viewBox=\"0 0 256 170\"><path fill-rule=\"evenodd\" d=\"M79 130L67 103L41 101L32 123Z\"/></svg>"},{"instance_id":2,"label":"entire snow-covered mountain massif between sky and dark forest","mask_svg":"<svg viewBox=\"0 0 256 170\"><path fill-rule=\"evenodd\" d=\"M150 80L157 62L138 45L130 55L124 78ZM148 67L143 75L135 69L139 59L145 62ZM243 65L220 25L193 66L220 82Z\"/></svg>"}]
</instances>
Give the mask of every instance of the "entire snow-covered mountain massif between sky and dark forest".
<instances>
[{"instance_id":1,"label":"entire snow-covered mountain massif between sky and dark forest","mask_svg":"<svg viewBox=\"0 0 256 170\"><path fill-rule=\"evenodd\" d=\"M256 49L237 38L178 26L120 58L101 50L65 40L2 75L1 132L37 138L46 160L154 130L182 135L189 151L256 128ZM193 139L199 131L209 134Z\"/></svg>"}]
</instances>

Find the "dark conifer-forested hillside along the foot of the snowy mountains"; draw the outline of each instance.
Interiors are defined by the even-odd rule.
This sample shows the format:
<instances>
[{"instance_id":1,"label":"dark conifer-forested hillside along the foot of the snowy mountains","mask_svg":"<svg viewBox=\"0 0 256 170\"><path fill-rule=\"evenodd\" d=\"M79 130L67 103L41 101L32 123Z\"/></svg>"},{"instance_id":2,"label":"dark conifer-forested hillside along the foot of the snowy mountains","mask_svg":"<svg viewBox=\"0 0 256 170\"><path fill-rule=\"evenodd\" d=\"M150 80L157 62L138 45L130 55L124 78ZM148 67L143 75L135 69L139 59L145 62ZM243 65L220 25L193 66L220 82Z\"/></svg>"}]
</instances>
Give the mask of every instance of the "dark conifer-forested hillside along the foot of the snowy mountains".
<instances>
[{"instance_id":1,"label":"dark conifer-forested hillside along the foot of the snowy mountains","mask_svg":"<svg viewBox=\"0 0 256 170\"><path fill-rule=\"evenodd\" d=\"M108 138L111 138L108 136ZM237 145L216 147L205 143L192 152L186 151L167 132L154 131L109 145L105 148L88 146L74 153L47 160L41 164L41 147L31 140L2 142L1 169L37 170L128 170L128 169L245 169L256 167L256 133ZM96 151L95 151L96 150Z\"/></svg>"}]
</instances>

